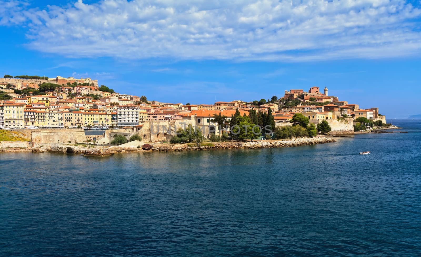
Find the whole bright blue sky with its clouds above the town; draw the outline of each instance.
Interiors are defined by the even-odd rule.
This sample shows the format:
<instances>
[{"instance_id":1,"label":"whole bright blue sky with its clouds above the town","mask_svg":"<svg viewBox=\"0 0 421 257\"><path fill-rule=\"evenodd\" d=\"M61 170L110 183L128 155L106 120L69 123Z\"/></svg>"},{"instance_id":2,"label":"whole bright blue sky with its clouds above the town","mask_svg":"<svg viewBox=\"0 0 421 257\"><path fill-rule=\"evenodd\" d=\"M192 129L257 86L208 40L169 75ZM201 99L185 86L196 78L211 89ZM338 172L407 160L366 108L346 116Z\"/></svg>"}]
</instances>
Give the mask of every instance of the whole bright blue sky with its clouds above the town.
<instances>
[{"instance_id":1,"label":"whole bright blue sky with its clouds above the town","mask_svg":"<svg viewBox=\"0 0 421 257\"><path fill-rule=\"evenodd\" d=\"M226 3L225 3L226 2ZM164 102L328 87L389 118L421 113L421 3L0 0L0 72L91 77Z\"/></svg>"}]
</instances>

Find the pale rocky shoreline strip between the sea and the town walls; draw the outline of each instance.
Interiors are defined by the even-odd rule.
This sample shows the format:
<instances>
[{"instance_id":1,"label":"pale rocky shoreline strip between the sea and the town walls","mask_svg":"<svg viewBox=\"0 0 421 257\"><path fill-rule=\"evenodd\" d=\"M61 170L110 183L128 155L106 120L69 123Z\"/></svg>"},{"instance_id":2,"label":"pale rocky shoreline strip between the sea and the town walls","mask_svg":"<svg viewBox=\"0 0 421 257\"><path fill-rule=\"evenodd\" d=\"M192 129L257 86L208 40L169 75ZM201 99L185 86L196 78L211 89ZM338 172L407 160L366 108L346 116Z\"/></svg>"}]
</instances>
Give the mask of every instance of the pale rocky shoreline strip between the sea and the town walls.
<instances>
[{"instance_id":1,"label":"pale rocky shoreline strip between the sea and the town walls","mask_svg":"<svg viewBox=\"0 0 421 257\"><path fill-rule=\"evenodd\" d=\"M108 156L116 153L126 152L174 152L174 151L190 151L190 150L208 150L208 149L258 149L258 148L274 148L274 147L296 147L312 144L324 144L336 142L330 137L314 137L314 138L296 138L290 140L264 140L253 142L215 142L215 143L201 143L197 144L152 144L150 150L142 149L144 143L139 142L139 145L130 147L119 146L82 146L82 145L67 145L67 144L42 144L33 145L28 148L0 148L0 152L61 152L61 153L77 153L92 156Z\"/></svg>"}]
</instances>

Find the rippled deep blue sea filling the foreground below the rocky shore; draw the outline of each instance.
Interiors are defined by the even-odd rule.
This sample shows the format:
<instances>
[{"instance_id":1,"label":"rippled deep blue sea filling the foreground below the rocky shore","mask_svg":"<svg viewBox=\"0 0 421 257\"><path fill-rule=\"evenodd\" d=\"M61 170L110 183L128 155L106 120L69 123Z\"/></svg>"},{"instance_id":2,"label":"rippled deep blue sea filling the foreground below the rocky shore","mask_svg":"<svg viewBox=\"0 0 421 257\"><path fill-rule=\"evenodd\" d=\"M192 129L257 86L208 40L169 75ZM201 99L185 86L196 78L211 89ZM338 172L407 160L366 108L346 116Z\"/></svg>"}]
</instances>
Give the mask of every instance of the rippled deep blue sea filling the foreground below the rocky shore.
<instances>
[{"instance_id":1,"label":"rippled deep blue sea filling the foreground below the rocky shore","mask_svg":"<svg viewBox=\"0 0 421 257\"><path fill-rule=\"evenodd\" d=\"M420 256L421 121L394 125L409 133L277 149L2 153L0 255Z\"/></svg>"}]
</instances>

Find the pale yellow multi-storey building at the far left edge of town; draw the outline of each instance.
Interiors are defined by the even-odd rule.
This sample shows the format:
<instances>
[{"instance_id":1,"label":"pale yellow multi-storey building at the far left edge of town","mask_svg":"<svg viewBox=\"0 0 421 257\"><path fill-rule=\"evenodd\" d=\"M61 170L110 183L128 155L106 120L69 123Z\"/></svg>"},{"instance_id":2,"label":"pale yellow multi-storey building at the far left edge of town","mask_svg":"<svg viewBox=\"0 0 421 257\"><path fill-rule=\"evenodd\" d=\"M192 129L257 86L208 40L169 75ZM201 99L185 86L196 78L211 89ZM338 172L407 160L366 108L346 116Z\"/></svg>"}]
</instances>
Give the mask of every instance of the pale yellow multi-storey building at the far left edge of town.
<instances>
[{"instance_id":1,"label":"pale yellow multi-storey building at the far left edge of town","mask_svg":"<svg viewBox=\"0 0 421 257\"><path fill-rule=\"evenodd\" d=\"M0 104L0 127L24 128L24 106L16 103Z\"/></svg>"}]
</instances>

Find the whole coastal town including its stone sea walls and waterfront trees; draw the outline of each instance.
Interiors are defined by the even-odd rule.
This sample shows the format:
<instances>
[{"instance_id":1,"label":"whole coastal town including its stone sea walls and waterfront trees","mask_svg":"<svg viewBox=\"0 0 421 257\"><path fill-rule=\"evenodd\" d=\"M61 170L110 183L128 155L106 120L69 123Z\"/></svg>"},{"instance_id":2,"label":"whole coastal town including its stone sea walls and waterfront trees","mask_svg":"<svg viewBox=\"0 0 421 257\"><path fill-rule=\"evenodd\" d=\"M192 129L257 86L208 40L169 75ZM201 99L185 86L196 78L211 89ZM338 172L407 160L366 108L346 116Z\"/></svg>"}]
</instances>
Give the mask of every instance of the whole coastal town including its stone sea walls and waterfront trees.
<instances>
[{"instance_id":1,"label":"whole coastal town including its stone sea walls and waterfront trees","mask_svg":"<svg viewBox=\"0 0 421 257\"><path fill-rule=\"evenodd\" d=\"M247 117L247 121L243 117ZM298 121L300 117L305 118L304 124ZM258 133L253 131L254 135L237 136L237 139L253 141L303 137L313 133L315 136L327 132L353 134L365 129L365 126L385 125L386 117L379 113L378 108L360 108L357 103L331 96L327 87L285 90L282 96L272 96L267 100L168 103L149 100L144 95L115 92L104 85L99 86L98 81L91 78L5 75L0 79L1 129L31 131L32 141L34 135L42 134L40 131L65 135L40 136L37 143L112 144L116 137L124 137L127 142L133 136L142 142L182 143L183 139L177 138L176 132L179 132L177 128L186 126L201 128L200 141L219 141L215 138L224 141L236 135L232 125L240 125L243 121L249 122L245 124L250 126L270 126L271 129L264 129L263 132L261 129ZM295 131L289 132L289 136L279 136L285 132L282 127L289 128L291 125L307 130L304 134ZM329 129L322 131L322 125ZM276 128L279 133L275 131ZM86 138L77 136L83 130L105 132ZM237 132L240 134L240 131Z\"/></svg>"}]
</instances>

